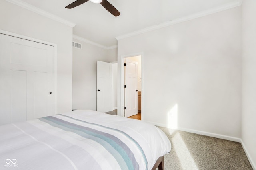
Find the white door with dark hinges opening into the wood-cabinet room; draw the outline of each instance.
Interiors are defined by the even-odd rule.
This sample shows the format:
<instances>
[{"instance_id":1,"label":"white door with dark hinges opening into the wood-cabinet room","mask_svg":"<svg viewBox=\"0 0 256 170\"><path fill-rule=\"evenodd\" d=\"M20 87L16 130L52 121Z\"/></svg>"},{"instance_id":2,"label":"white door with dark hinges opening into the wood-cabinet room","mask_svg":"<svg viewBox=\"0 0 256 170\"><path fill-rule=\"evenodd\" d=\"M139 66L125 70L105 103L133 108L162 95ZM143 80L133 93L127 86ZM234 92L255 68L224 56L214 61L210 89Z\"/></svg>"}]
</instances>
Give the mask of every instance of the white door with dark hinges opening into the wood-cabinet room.
<instances>
[{"instance_id":1,"label":"white door with dark hinges opening into the wood-cabinet room","mask_svg":"<svg viewBox=\"0 0 256 170\"><path fill-rule=\"evenodd\" d=\"M138 114L137 92L138 63L126 58L125 66L125 117Z\"/></svg>"}]
</instances>

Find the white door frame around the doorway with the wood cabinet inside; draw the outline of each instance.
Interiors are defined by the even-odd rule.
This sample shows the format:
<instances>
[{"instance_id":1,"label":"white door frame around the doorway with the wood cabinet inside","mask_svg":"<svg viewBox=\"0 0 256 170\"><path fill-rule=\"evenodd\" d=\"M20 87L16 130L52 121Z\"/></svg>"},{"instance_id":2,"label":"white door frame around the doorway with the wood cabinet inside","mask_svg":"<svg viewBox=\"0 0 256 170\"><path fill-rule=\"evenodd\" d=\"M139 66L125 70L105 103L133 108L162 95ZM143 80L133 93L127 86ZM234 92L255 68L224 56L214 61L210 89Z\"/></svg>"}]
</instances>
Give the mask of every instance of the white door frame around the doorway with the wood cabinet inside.
<instances>
[{"instance_id":1,"label":"white door frame around the doorway with the wood cabinet inside","mask_svg":"<svg viewBox=\"0 0 256 170\"><path fill-rule=\"evenodd\" d=\"M133 53L133 54L128 54L128 55L121 55L121 60L120 60L120 65L118 66L120 68L120 81L119 81L119 90L120 90L120 99L118 99L118 112L117 115L124 117L124 60L128 57L134 57L134 56L141 56L141 91L142 91L142 95L141 95L141 120L144 119L144 114L143 114L143 106L144 106L144 102L143 102L143 93L144 93L144 81L143 81L143 63L144 63L144 57L143 57L143 52L140 53Z\"/></svg>"}]
</instances>

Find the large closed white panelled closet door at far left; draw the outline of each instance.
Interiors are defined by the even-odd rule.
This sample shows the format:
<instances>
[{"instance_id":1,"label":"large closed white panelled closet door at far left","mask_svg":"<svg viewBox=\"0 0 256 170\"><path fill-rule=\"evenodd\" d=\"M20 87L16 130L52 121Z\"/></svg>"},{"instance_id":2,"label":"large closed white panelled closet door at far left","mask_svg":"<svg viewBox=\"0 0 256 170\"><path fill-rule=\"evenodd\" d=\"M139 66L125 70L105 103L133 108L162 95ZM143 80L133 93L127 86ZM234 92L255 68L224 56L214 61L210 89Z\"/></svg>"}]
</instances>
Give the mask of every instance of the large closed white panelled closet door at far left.
<instances>
[{"instance_id":1,"label":"large closed white panelled closet door at far left","mask_svg":"<svg viewBox=\"0 0 256 170\"><path fill-rule=\"evenodd\" d=\"M54 47L0 34L0 125L54 114Z\"/></svg>"}]
</instances>

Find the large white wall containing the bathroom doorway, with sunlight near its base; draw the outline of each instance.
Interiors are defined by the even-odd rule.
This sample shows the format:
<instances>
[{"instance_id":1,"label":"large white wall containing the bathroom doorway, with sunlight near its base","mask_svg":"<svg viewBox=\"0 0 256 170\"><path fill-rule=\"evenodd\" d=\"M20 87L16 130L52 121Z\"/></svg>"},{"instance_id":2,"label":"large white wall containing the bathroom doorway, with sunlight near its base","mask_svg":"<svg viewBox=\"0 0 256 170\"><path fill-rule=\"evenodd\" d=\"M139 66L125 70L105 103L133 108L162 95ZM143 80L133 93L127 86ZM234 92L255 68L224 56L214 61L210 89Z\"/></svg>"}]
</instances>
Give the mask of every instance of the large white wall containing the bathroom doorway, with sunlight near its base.
<instances>
[{"instance_id":1,"label":"large white wall containing the bathroom doorway, with sunlight near its base","mask_svg":"<svg viewBox=\"0 0 256 170\"><path fill-rule=\"evenodd\" d=\"M241 39L236 7L118 40L118 73L122 57L143 54L144 121L169 127L177 106L178 127L239 138Z\"/></svg>"}]
</instances>

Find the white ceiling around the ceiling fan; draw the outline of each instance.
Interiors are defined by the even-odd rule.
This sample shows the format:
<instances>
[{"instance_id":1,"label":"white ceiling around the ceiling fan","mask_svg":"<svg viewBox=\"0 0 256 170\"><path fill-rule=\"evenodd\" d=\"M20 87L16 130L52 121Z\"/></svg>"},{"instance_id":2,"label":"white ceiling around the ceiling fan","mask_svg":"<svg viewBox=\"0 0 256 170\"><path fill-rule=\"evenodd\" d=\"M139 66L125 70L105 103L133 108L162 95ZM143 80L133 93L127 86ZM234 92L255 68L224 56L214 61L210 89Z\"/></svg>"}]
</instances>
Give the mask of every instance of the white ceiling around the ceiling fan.
<instances>
[{"instance_id":1,"label":"white ceiling around the ceiling fan","mask_svg":"<svg viewBox=\"0 0 256 170\"><path fill-rule=\"evenodd\" d=\"M75 23L74 35L111 47L117 44L115 37L238 0L108 0L121 13L117 17L90 1L72 9L65 6L75 0L22 1Z\"/></svg>"}]
</instances>

